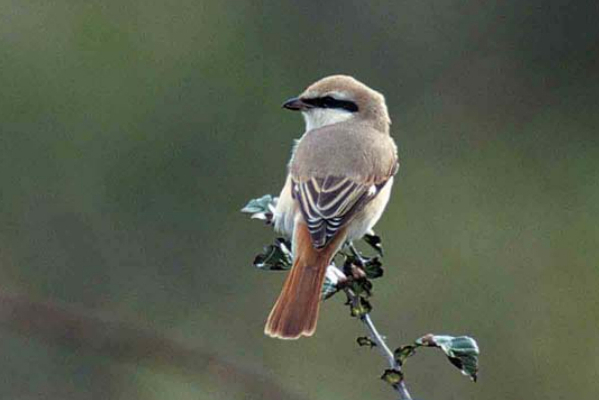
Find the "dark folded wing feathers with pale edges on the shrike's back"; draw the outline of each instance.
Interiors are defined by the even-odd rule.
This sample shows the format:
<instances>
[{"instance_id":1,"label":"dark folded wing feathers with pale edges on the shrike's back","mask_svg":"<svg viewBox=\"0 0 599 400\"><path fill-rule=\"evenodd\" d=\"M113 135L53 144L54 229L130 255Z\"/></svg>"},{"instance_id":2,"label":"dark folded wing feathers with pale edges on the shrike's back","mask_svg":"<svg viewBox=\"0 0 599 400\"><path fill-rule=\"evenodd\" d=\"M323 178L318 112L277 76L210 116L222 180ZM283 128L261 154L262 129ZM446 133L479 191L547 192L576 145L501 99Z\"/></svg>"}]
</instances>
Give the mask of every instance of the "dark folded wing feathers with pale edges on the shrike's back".
<instances>
[{"instance_id":1,"label":"dark folded wing feathers with pale edges on the shrike's back","mask_svg":"<svg viewBox=\"0 0 599 400\"><path fill-rule=\"evenodd\" d=\"M292 178L292 195L308 225L312 244L324 247L353 216L374 199L398 170L395 163L388 176L382 179L358 180L350 177Z\"/></svg>"}]
</instances>

